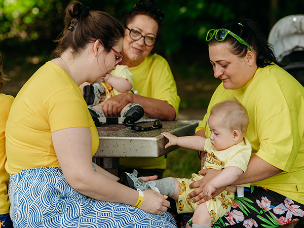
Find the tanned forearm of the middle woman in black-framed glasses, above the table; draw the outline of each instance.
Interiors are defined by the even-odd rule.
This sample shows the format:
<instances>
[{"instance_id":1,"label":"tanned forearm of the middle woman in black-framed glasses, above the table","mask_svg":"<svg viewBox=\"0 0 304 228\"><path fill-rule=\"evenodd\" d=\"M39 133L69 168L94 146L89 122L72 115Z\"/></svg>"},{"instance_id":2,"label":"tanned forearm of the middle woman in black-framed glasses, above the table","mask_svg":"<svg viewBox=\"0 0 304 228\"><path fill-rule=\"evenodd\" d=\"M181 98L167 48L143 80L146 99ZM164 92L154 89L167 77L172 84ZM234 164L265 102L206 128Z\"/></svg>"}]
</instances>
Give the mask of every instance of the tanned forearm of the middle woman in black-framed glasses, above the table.
<instances>
[{"instance_id":1,"label":"tanned forearm of the middle woman in black-framed glasses, above the table","mask_svg":"<svg viewBox=\"0 0 304 228\"><path fill-rule=\"evenodd\" d=\"M175 109L167 101L143 97L138 94L129 95L131 96L130 103L140 104L147 116L160 120L175 120Z\"/></svg>"}]
</instances>

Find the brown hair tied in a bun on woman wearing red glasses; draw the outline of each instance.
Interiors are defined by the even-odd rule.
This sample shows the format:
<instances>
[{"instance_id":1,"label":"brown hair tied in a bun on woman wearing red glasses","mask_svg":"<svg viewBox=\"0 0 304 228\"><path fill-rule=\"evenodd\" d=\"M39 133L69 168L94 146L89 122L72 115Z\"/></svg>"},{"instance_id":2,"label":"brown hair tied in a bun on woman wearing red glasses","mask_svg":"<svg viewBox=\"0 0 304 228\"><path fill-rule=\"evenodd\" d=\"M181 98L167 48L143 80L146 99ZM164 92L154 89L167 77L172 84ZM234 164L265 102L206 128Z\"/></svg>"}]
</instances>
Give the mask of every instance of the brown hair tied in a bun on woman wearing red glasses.
<instances>
[{"instance_id":1,"label":"brown hair tied in a bun on woman wearing red glasses","mask_svg":"<svg viewBox=\"0 0 304 228\"><path fill-rule=\"evenodd\" d=\"M59 42L53 52L55 57L68 48L77 55L90 40L100 40L109 52L125 36L123 26L115 18L101 11L90 10L77 1L67 5L64 22L61 37L55 41Z\"/></svg>"}]
</instances>

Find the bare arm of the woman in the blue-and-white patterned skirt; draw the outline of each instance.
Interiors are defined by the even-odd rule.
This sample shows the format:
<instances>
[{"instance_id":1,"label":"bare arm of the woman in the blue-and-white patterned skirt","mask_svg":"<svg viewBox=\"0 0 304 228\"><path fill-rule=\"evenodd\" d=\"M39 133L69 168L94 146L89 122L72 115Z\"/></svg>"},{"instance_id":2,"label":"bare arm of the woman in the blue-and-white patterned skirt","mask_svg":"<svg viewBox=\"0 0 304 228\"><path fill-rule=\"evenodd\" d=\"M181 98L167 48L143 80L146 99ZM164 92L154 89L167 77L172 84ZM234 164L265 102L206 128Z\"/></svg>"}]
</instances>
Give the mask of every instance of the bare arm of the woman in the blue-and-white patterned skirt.
<instances>
[{"instance_id":1,"label":"bare arm of the woman in the blue-and-white patterned skirt","mask_svg":"<svg viewBox=\"0 0 304 228\"><path fill-rule=\"evenodd\" d=\"M66 181L88 197L134 205L138 193L117 182L105 170L92 164L91 131L88 127L66 128L52 132L60 168ZM128 196L128 197L124 197Z\"/></svg>"}]
</instances>

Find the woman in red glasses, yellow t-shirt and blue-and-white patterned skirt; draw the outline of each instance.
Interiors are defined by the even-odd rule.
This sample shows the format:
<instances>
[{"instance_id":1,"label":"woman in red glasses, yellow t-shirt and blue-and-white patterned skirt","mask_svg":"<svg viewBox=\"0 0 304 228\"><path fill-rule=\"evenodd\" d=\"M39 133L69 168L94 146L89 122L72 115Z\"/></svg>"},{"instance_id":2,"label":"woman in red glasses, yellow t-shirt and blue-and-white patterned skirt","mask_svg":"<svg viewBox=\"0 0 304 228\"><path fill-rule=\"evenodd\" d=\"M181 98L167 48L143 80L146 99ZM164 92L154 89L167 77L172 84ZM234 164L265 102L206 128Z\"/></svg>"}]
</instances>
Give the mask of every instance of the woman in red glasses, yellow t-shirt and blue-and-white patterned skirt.
<instances>
[{"instance_id":1,"label":"woman in red glasses, yellow t-shirt and blue-and-white patterned skirt","mask_svg":"<svg viewBox=\"0 0 304 228\"><path fill-rule=\"evenodd\" d=\"M65 13L58 58L22 87L7 122L14 227L175 227L162 213L166 197L139 193L92 163L98 132L79 86L115 69L122 25L80 2Z\"/></svg>"}]
</instances>

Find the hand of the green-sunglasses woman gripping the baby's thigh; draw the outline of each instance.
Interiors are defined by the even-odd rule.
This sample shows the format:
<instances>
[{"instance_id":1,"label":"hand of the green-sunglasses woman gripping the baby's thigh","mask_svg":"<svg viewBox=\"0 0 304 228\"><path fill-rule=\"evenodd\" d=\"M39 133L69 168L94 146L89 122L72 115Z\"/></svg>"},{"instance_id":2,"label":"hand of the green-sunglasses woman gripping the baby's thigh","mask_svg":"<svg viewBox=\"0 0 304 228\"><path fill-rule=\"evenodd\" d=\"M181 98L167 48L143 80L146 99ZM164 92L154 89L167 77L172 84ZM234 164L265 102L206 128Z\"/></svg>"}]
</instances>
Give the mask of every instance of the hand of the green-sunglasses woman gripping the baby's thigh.
<instances>
[{"instance_id":1,"label":"hand of the green-sunglasses woman gripping the baby's thigh","mask_svg":"<svg viewBox=\"0 0 304 228\"><path fill-rule=\"evenodd\" d=\"M203 188L204 186L215 176L217 176L220 173L220 170L215 170L215 169L203 169L199 172L200 175L204 176L203 179L201 180L197 180L195 182L193 182L192 184L189 185L190 188L197 188L195 189L195 191L189 193L188 195L188 199L192 199L192 202L198 202L200 203L204 203L207 200L210 200L211 198L208 198L204 195L203 193ZM220 190L221 192L224 190L225 188L223 188L221 190L221 188L216 189L216 191L214 192L214 194L212 194L213 196L216 196L216 194L219 194Z\"/></svg>"}]
</instances>

